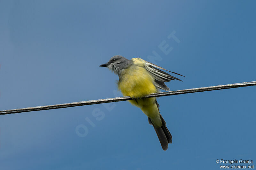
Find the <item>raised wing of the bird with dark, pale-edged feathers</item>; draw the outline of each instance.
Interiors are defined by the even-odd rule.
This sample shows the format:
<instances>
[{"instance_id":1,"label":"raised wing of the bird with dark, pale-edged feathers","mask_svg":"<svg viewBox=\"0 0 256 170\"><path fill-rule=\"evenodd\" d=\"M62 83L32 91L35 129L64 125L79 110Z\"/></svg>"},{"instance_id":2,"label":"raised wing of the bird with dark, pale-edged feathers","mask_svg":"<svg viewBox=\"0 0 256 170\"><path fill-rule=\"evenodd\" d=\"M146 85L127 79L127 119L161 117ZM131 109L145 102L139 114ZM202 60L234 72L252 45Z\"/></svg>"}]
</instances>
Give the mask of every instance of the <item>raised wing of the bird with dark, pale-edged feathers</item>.
<instances>
[{"instance_id":1,"label":"raised wing of the bird with dark, pale-edged feathers","mask_svg":"<svg viewBox=\"0 0 256 170\"><path fill-rule=\"evenodd\" d=\"M152 63L150 63L148 61L145 61L145 60L142 60L140 58L133 58L132 61L134 62L134 64L136 64L140 67L144 67L150 73L150 75L155 79L156 87L159 88L159 89L163 89L163 90L166 90L166 91L170 90L164 84L164 82L169 82L171 80L182 81L182 80L178 79L177 77L174 77L174 76L172 76L168 73L165 73L164 71L158 69L158 68L160 68L160 69L166 70L163 67L157 66L155 64L152 64ZM169 71L169 70L166 70L166 71ZM169 71L169 72L171 72L171 71ZM175 72L171 72L171 73L178 74L178 73L175 73ZM181 74L178 74L178 75L181 75ZM183 75L181 75L181 76L183 76ZM185 77L185 76L183 76L183 77Z\"/></svg>"}]
</instances>

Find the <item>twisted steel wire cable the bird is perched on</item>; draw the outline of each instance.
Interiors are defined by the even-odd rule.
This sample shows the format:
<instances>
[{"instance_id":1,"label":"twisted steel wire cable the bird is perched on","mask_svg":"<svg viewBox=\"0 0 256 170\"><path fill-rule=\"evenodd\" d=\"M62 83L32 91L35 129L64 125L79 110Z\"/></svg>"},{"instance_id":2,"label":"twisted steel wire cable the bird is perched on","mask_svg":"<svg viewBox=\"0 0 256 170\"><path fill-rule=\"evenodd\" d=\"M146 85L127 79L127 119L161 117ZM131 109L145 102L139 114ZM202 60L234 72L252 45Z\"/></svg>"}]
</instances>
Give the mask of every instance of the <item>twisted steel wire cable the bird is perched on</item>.
<instances>
[{"instance_id":1,"label":"twisted steel wire cable the bird is perched on","mask_svg":"<svg viewBox=\"0 0 256 170\"><path fill-rule=\"evenodd\" d=\"M194 89L184 89L184 90L152 93L144 96L143 98L173 96L173 95L181 95L181 94L221 90L221 89L231 89L231 88L247 87L247 86L255 86L255 85L256 85L256 81L251 81L251 82L234 83L234 84L226 84L226 85L219 85L219 86L209 86L209 87L200 87L200 88L194 88ZM108 98L108 99L89 100L89 101L83 101L83 102L73 102L73 103L55 104L55 105L48 105L48 106L28 107L28 108L22 108L22 109L3 110L3 111L0 111L0 115L6 115L11 113L22 113L22 112L29 112L29 111L60 109L60 108L101 104L101 103L120 102L120 101L132 100L132 99L133 98L131 98L130 96L124 96L124 97L115 97L115 98Z\"/></svg>"}]
</instances>

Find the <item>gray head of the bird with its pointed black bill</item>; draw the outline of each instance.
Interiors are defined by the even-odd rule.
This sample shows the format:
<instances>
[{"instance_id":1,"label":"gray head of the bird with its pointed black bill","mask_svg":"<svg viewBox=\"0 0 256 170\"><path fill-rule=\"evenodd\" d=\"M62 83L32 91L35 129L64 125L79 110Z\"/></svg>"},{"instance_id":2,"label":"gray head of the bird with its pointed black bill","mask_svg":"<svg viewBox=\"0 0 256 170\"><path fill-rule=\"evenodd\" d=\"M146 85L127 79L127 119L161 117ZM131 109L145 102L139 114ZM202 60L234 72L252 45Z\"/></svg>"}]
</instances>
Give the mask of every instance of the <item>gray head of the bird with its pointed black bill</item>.
<instances>
[{"instance_id":1,"label":"gray head of the bird with its pointed black bill","mask_svg":"<svg viewBox=\"0 0 256 170\"><path fill-rule=\"evenodd\" d=\"M109 70L120 76L122 71L131 65L131 60L128 60L121 55L115 55L111 57L107 63L101 64L100 67L108 67Z\"/></svg>"}]
</instances>

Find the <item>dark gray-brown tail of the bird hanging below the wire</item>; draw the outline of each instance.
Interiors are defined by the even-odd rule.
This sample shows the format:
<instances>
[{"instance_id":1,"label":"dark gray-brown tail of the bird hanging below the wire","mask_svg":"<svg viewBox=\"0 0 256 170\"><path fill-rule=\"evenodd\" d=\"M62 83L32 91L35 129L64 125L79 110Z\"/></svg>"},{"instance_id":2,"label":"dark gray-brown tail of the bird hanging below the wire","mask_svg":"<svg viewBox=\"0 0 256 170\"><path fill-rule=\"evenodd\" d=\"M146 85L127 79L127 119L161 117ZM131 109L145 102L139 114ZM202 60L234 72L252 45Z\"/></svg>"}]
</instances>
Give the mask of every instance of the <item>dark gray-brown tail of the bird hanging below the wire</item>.
<instances>
[{"instance_id":1,"label":"dark gray-brown tail of the bird hanging below the wire","mask_svg":"<svg viewBox=\"0 0 256 170\"><path fill-rule=\"evenodd\" d=\"M166 122L164 121L161 114L160 114L160 118L162 120L163 125L159 128L155 127L155 125L151 122L151 119L149 117L148 117L148 123L153 125L153 127L156 131L157 137L161 143L161 146L162 146L163 150L166 151L168 149L168 144L172 143L172 135L171 135L170 131L167 129Z\"/></svg>"}]
</instances>

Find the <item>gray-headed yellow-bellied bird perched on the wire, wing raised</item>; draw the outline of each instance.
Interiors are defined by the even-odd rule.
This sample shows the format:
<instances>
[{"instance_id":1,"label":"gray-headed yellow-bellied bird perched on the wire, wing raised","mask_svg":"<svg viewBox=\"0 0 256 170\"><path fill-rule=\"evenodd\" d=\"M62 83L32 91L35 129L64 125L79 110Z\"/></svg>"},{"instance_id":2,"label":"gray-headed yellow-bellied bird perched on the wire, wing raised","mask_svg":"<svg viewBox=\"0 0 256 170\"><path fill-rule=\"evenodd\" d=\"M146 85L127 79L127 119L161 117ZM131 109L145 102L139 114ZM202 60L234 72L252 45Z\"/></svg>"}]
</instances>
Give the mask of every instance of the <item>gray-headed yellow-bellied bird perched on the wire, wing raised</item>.
<instances>
[{"instance_id":1,"label":"gray-headed yellow-bellied bird perched on the wire, wing raised","mask_svg":"<svg viewBox=\"0 0 256 170\"><path fill-rule=\"evenodd\" d=\"M140 58L129 60L121 55L115 55L107 63L101 64L100 67L107 67L110 71L118 75L118 89L123 96L132 97L133 100L129 100L129 102L139 107L148 116L148 123L154 127L160 144L163 150L166 151L168 144L172 143L172 135L159 112L159 104L156 98L143 98L143 96L159 92L160 89L169 91L170 88L164 82L182 80L162 71L168 71L163 67ZM171 73L178 74L175 72ZM181 74L178 75L183 76Z\"/></svg>"}]
</instances>

